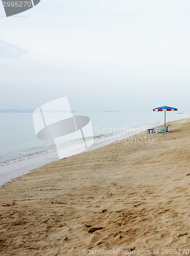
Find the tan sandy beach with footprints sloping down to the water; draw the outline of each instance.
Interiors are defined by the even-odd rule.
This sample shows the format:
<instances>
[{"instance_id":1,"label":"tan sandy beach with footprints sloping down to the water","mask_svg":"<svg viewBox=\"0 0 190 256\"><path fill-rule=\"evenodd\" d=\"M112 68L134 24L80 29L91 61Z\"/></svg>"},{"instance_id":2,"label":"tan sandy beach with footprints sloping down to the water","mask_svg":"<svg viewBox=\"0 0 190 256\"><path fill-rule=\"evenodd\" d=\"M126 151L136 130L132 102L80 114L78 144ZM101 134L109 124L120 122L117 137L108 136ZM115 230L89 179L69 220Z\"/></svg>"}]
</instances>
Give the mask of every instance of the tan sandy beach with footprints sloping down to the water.
<instances>
[{"instance_id":1,"label":"tan sandy beach with footprints sloping down to the water","mask_svg":"<svg viewBox=\"0 0 190 256\"><path fill-rule=\"evenodd\" d=\"M44 165L1 187L1 255L190 251L190 120L169 130ZM89 233L93 227L103 229Z\"/></svg>"}]
</instances>

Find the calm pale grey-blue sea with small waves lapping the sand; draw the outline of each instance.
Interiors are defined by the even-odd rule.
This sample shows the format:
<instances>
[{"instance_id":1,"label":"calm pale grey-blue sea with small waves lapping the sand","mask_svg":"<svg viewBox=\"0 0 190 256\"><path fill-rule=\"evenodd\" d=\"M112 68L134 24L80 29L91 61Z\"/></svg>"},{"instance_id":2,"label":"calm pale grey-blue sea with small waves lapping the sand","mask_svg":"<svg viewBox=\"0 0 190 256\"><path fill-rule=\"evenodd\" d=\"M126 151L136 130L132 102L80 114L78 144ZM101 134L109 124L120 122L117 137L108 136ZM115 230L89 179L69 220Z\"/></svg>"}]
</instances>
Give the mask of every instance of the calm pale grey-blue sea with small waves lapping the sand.
<instances>
[{"instance_id":1,"label":"calm pale grey-blue sea with small waves lapping the sand","mask_svg":"<svg viewBox=\"0 0 190 256\"><path fill-rule=\"evenodd\" d=\"M163 112L73 115L90 117L94 143L89 150L163 124L164 118ZM189 117L190 113L167 112L167 121ZM75 145L77 148L80 143L80 139L67 140L64 147L69 152L70 146ZM70 152L70 155L75 155L75 152ZM32 113L0 113L0 185L58 159L54 140L40 140L36 137Z\"/></svg>"}]
</instances>

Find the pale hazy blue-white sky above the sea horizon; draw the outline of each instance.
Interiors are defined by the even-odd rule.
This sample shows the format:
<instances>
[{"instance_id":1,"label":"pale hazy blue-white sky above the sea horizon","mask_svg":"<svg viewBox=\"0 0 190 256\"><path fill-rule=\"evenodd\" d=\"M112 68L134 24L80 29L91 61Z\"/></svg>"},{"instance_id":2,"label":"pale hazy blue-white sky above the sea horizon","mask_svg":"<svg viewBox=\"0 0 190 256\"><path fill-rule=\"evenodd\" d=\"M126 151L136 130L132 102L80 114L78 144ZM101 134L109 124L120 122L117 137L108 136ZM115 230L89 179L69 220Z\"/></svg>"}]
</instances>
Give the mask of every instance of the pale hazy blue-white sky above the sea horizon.
<instances>
[{"instance_id":1,"label":"pale hazy blue-white sky above the sea horizon","mask_svg":"<svg viewBox=\"0 0 190 256\"><path fill-rule=\"evenodd\" d=\"M190 112L189 0L0 4L0 109L67 96L76 111Z\"/></svg>"}]
</instances>

